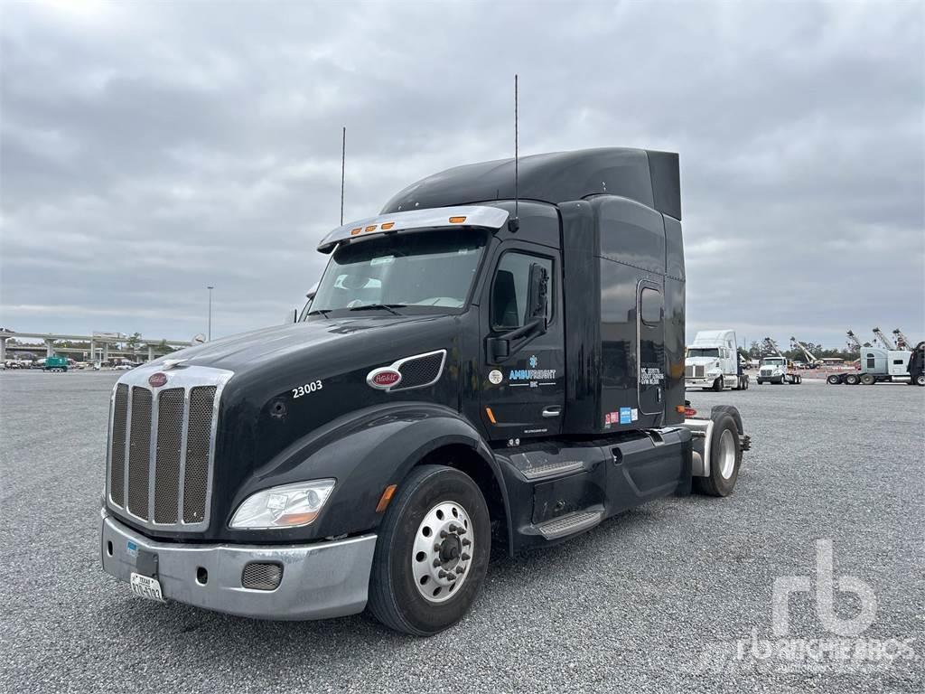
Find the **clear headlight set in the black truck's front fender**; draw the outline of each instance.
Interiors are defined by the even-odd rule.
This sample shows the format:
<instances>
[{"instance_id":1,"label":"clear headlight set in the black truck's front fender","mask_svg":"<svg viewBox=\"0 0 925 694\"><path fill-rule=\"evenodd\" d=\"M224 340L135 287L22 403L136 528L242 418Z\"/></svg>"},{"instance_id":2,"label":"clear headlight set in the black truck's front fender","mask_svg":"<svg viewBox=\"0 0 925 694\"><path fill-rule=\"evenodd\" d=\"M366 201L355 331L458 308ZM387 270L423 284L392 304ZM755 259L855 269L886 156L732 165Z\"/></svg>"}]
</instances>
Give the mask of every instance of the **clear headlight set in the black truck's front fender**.
<instances>
[{"instance_id":1,"label":"clear headlight set in the black truck's front fender","mask_svg":"<svg viewBox=\"0 0 925 694\"><path fill-rule=\"evenodd\" d=\"M318 517L333 489L333 479L313 479L258 491L240 504L231 518L231 527L256 530L307 526Z\"/></svg>"}]
</instances>

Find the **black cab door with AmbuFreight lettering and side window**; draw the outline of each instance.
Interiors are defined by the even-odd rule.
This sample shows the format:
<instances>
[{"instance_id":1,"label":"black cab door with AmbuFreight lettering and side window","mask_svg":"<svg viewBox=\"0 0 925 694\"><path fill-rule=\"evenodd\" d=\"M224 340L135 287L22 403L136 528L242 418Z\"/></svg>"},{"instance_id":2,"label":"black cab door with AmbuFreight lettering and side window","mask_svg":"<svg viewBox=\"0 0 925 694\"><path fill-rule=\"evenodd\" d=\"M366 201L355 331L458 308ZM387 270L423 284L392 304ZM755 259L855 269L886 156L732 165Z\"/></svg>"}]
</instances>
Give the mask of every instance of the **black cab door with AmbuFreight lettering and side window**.
<instances>
[{"instance_id":1,"label":"black cab door with AmbuFreight lettering and side window","mask_svg":"<svg viewBox=\"0 0 925 694\"><path fill-rule=\"evenodd\" d=\"M518 344L499 358L492 338L527 323L530 268L547 271L546 332ZM481 417L491 440L511 445L561 431L565 403L565 355L561 308L561 258L558 251L529 243L506 243L496 258L482 297Z\"/></svg>"}]
</instances>

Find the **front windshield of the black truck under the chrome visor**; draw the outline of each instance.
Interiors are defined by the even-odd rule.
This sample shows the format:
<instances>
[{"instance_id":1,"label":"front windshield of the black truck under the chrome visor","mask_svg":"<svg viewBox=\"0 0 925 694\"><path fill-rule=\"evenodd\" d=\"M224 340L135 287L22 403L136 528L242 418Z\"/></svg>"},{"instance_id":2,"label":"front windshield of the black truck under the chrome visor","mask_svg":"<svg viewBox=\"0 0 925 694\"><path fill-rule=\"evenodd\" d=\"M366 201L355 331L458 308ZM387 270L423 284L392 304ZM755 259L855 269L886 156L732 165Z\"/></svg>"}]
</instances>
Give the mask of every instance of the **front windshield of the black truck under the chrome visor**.
<instances>
[{"instance_id":1,"label":"front windshield of the black truck under the chrome visor","mask_svg":"<svg viewBox=\"0 0 925 694\"><path fill-rule=\"evenodd\" d=\"M308 315L364 306L461 309L485 242L471 229L447 229L341 245Z\"/></svg>"}]
</instances>

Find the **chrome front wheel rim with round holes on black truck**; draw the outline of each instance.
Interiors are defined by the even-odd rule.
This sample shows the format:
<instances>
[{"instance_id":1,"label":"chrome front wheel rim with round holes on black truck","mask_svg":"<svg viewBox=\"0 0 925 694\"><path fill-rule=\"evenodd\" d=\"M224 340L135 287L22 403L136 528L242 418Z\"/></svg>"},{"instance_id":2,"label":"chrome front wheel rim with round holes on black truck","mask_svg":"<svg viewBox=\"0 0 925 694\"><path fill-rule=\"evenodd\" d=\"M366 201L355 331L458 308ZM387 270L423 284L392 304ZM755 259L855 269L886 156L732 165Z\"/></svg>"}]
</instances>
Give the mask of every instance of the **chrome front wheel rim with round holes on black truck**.
<instances>
[{"instance_id":1,"label":"chrome front wheel rim with round holes on black truck","mask_svg":"<svg viewBox=\"0 0 925 694\"><path fill-rule=\"evenodd\" d=\"M414 585L428 602L450 600L469 576L475 556L472 520L458 502L439 502L414 535Z\"/></svg>"}]
</instances>

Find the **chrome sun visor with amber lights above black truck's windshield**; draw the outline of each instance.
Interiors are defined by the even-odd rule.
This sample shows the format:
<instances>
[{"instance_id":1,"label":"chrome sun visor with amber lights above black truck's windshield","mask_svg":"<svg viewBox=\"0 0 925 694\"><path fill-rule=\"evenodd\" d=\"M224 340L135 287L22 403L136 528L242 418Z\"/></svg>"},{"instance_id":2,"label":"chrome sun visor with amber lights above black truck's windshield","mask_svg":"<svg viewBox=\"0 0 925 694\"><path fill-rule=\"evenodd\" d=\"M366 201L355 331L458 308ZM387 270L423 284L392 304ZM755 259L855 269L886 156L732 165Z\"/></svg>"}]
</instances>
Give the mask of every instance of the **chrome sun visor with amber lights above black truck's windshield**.
<instances>
[{"instance_id":1,"label":"chrome sun visor with amber lights above black truck's windshield","mask_svg":"<svg viewBox=\"0 0 925 694\"><path fill-rule=\"evenodd\" d=\"M450 221L459 219L462 221ZM363 239L370 236L421 231L447 227L475 227L498 230L507 223L507 210L485 205L462 205L455 207L429 207L426 209L394 212L388 215L367 217L333 229L318 244L318 251L328 254L344 241ZM383 229L385 225L385 229Z\"/></svg>"}]
</instances>

